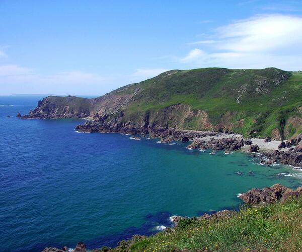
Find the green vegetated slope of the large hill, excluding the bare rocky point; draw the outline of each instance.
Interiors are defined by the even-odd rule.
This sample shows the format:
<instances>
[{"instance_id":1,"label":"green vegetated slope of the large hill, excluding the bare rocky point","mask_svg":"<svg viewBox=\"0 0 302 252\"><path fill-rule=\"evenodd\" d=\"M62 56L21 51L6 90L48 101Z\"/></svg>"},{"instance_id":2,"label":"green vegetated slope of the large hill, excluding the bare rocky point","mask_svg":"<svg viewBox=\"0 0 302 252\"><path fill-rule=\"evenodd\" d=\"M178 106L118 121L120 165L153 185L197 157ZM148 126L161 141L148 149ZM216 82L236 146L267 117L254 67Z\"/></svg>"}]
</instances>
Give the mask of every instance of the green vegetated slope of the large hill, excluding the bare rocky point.
<instances>
[{"instance_id":1,"label":"green vegetated slope of the large hill, excluding the bare rocky point","mask_svg":"<svg viewBox=\"0 0 302 252\"><path fill-rule=\"evenodd\" d=\"M226 127L244 135L256 131L254 135L264 137L278 129L281 137L288 138L302 130L301 84L302 72L207 68L169 71L113 93L130 94L139 89L126 108L129 120L135 121L145 113L160 118L167 107L187 104L195 113L206 112L208 122L216 130ZM180 114L185 112L181 110ZM198 116L180 121L176 125L170 123L171 127L211 130Z\"/></svg>"}]
</instances>

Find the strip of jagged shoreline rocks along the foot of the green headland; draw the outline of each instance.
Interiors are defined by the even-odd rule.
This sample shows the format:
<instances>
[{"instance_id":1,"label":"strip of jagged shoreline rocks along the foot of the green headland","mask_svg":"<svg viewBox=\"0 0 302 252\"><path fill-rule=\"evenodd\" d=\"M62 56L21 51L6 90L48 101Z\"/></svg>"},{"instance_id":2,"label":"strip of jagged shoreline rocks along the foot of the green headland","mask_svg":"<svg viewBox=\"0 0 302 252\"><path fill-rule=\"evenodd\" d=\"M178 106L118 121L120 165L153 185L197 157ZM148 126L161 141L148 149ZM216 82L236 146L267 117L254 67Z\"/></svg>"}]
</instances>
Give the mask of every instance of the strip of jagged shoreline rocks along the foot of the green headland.
<instances>
[{"instance_id":1,"label":"strip of jagged shoreline rocks along the foot of the green headland","mask_svg":"<svg viewBox=\"0 0 302 252\"><path fill-rule=\"evenodd\" d=\"M160 138L161 142L171 141L192 141L187 148L205 150L211 149L236 151L247 150L251 153L263 154L261 163L271 165L279 162L284 165L291 165L296 168L302 167L302 134L290 141L280 141L278 150L259 150L258 145L253 145L251 139L245 139L242 136L232 135L232 132L226 132L226 136L217 138L217 132L191 131L176 128L161 127L159 125L132 125L131 122L117 124L105 121L106 118L95 118L84 124L77 125L75 130L89 133L121 133L129 135L140 135L142 137ZM216 137L216 138L215 138ZM264 142L270 142L270 138L264 139ZM245 148L243 148L245 147Z\"/></svg>"}]
</instances>

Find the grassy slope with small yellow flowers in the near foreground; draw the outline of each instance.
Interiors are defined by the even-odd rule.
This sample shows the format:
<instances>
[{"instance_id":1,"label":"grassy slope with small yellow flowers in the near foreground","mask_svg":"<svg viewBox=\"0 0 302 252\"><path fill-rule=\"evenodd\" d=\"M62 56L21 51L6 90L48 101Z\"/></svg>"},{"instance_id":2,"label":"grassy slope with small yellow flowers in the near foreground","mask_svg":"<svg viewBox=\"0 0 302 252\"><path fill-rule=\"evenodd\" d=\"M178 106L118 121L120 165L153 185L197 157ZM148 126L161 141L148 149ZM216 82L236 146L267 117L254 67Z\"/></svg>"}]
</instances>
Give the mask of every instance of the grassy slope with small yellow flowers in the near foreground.
<instances>
[{"instance_id":1,"label":"grassy slope with small yellow flowers in the near foreground","mask_svg":"<svg viewBox=\"0 0 302 252\"><path fill-rule=\"evenodd\" d=\"M302 249L302 196L243 206L231 217L188 219L150 237L122 241L110 251L298 251ZM96 250L98 251L98 250Z\"/></svg>"}]
</instances>

